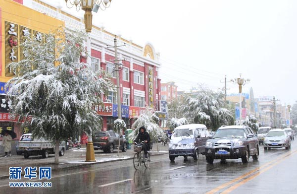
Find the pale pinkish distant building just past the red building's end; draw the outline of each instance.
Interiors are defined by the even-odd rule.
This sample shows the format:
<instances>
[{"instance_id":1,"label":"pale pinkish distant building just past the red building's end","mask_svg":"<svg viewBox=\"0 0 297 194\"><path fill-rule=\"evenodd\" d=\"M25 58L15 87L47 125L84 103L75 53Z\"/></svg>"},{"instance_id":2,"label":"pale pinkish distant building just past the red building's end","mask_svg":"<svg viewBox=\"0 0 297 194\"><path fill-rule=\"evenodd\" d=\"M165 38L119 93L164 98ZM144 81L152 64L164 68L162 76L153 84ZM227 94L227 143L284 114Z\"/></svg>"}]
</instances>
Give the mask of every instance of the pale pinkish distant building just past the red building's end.
<instances>
[{"instance_id":1,"label":"pale pinkish distant building just past the red building's end","mask_svg":"<svg viewBox=\"0 0 297 194\"><path fill-rule=\"evenodd\" d=\"M177 99L177 87L173 81L161 83L161 100L170 103Z\"/></svg>"}]
</instances>

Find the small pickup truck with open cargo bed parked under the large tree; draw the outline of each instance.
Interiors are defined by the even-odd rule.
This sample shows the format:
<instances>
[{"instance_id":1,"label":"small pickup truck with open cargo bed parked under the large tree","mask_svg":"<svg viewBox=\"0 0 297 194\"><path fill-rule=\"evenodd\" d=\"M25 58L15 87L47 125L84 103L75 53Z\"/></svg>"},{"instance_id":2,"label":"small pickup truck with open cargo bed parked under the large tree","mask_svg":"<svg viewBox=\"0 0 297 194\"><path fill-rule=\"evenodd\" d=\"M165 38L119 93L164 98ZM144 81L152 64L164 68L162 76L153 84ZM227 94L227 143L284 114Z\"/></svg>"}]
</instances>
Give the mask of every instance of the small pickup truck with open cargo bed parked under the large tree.
<instances>
[{"instance_id":1,"label":"small pickup truck with open cargo bed parked under the large tree","mask_svg":"<svg viewBox=\"0 0 297 194\"><path fill-rule=\"evenodd\" d=\"M18 143L18 149L24 150L24 158L29 158L31 155L42 155L43 158L48 158L49 154L54 154L55 145L45 138L32 138L31 133L25 133L21 136ZM59 145L59 156L64 156L66 149L65 141Z\"/></svg>"}]
</instances>

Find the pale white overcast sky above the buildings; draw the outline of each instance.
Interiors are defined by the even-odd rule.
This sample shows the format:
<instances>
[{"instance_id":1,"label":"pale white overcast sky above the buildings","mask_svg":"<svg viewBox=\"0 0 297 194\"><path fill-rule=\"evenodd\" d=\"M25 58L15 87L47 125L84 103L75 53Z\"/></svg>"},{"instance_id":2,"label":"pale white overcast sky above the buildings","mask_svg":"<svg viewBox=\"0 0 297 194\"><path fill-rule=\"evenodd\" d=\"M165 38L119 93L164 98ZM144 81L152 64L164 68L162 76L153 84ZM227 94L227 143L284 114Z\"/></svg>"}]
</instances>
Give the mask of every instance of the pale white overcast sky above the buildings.
<instances>
[{"instance_id":1,"label":"pale white overcast sky above the buildings","mask_svg":"<svg viewBox=\"0 0 297 194\"><path fill-rule=\"evenodd\" d=\"M297 100L297 0L112 0L93 23L151 43L162 82L175 81L179 90L198 83L217 89L225 75L229 81L242 73L255 97Z\"/></svg>"}]
</instances>

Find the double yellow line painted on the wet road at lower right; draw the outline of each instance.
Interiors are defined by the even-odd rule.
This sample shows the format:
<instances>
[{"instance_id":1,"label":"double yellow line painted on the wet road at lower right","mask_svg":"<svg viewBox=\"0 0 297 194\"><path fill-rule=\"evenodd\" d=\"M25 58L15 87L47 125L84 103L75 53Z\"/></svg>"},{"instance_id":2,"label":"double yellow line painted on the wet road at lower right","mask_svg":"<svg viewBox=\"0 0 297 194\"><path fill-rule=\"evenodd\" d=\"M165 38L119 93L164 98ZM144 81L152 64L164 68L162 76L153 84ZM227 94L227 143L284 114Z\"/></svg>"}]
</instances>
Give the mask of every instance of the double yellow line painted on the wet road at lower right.
<instances>
[{"instance_id":1,"label":"double yellow line painted on the wet road at lower right","mask_svg":"<svg viewBox=\"0 0 297 194\"><path fill-rule=\"evenodd\" d=\"M232 181L230 181L230 182L228 182L228 183L225 183L225 184L222 184L222 185L220 185L219 187L217 187L217 188L215 188L215 189L213 189L213 190L211 190L211 191L209 191L209 192L207 192L206 194L215 194L216 192L218 192L218 191L220 191L220 190L222 190L222 189L224 189L224 188L226 188L226 187L228 187L229 185L232 185L233 183L236 183L236 182L238 182L239 180L241 180L241 179L243 179L243 178L245 178L245 177L247 177L247 176L249 176L249 175L251 175L251 174L253 174L254 172L256 172L256 171L259 171L260 169L263 169L263 168L265 168L266 166L268 166L268 165L270 165L270 164L272 164L272 163L274 163L276 160L279 160L279 159L281 159L281 158L283 158L281 161L283 161L286 157L288 157L288 156L290 156L290 155L293 155L293 154L295 154L297 152L297 150L295 150L293 153L284 153L284 154L282 154L281 156L279 156L278 158L276 158L275 160L273 160L273 161L271 161L271 162L267 162L267 163L265 163L265 164L263 164L262 166L260 166L260 167L258 167L258 168L256 168L256 169L254 169L254 170L252 170L252 171L249 171L249 172L247 172L246 174L244 174L244 175L242 175L242 176L240 176L240 177L238 177L238 178L236 178L236 179L233 179ZM285 156L285 158L284 158L284 156L283 155L286 155L287 154L287 156ZM281 161L279 161L279 162L281 162ZM279 162L277 162L276 164L278 164ZM273 164L271 167L273 167L273 166L275 166L276 164ZM266 167L266 169L267 170L269 170L271 167ZM261 173L263 173L263 172L265 172L265 171L267 171L267 170L263 170L263 171L261 171ZM256 173L255 175L259 175L259 174L261 174L261 173ZM253 176L251 176L251 177L255 177L255 175L253 175ZM246 180L251 180L251 179L249 179L249 178L247 178ZM245 180L244 180L245 181ZM242 182L244 182L244 181L241 181L240 183L242 183ZM247 182L247 181L246 181ZM244 182L244 183L246 183L246 182ZM238 183L238 184L240 184L240 183ZM244 184L243 183L243 184ZM238 185L238 184L236 184L236 185ZM241 185L243 185L243 184L241 184ZM235 186L236 186L235 185ZM240 186L240 185L239 185ZM238 187L239 187L238 186ZM234 186L232 186L232 187L234 187ZM230 188L232 188L232 187L230 187ZM237 187L236 187L237 188ZM235 189L236 189L235 188ZM227 190L226 190L227 191ZM229 192L228 192L229 193ZM223 193L222 193L223 194Z\"/></svg>"}]
</instances>

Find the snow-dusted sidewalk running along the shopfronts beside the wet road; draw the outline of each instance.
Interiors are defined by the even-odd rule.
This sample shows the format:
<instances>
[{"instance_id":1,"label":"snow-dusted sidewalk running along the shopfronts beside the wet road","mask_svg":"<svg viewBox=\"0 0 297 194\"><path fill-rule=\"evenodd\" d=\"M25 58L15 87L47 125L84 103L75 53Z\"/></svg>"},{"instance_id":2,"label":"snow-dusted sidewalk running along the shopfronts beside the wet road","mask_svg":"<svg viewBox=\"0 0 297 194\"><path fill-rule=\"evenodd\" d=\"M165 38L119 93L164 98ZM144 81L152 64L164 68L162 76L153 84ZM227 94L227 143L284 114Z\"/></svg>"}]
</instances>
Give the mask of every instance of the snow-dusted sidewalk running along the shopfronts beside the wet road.
<instances>
[{"instance_id":1,"label":"snow-dusted sidewalk running along the shopfronts beside the wet road","mask_svg":"<svg viewBox=\"0 0 297 194\"><path fill-rule=\"evenodd\" d=\"M161 145L158 143L159 152L157 151L156 144L153 144L152 150L150 150L151 156L168 154L168 146ZM42 158L42 156L30 156L28 159L25 159L23 155L12 155L10 157L0 157L0 180L9 178L9 167L51 167L52 171L61 170L61 169L71 169L78 168L82 166L99 164L105 162L114 162L121 160L130 160L133 159L134 151L128 149L126 152L119 151L119 157L117 156L117 150L114 150L113 153L103 153L101 150L95 150L95 159L96 162L85 162L86 159L86 148L80 149L69 149L65 151L64 156L59 157L59 165L54 165L54 154L50 154L49 158Z\"/></svg>"}]
</instances>

